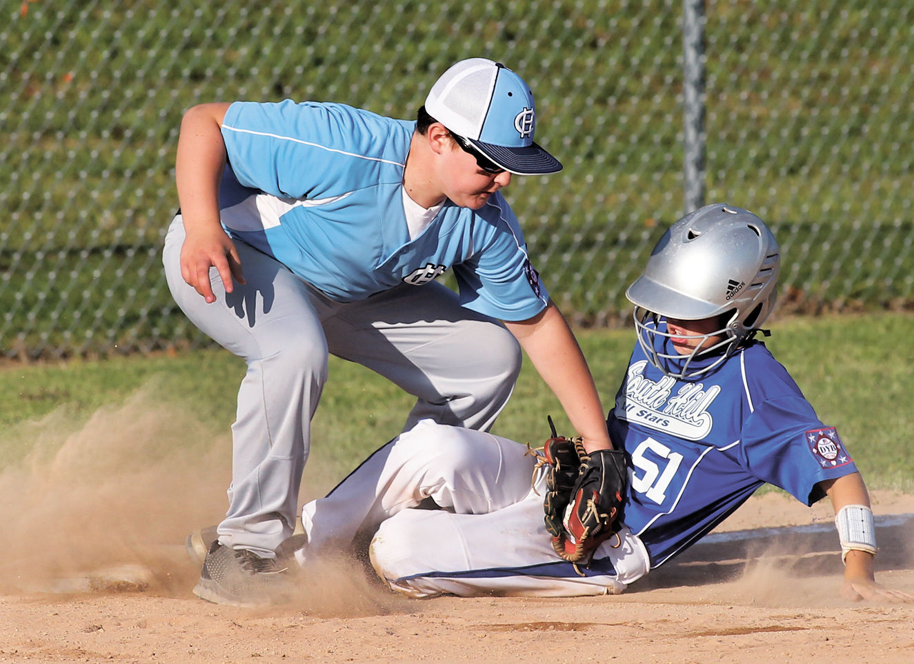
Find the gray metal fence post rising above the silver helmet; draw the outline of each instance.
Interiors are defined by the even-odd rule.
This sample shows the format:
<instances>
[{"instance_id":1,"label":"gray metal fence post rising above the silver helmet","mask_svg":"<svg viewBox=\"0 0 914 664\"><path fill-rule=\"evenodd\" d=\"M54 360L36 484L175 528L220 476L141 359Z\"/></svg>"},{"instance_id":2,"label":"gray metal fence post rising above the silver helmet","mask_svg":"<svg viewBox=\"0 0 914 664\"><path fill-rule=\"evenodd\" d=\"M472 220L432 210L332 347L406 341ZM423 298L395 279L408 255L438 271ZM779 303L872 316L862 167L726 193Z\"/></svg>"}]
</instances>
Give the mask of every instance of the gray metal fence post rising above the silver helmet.
<instances>
[{"instance_id":1,"label":"gray metal fence post rising above the silver helmet","mask_svg":"<svg viewBox=\"0 0 914 664\"><path fill-rule=\"evenodd\" d=\"M683 0L683 184L687 214L705 205L705 0Z\"/></svg>"}]
</instances>

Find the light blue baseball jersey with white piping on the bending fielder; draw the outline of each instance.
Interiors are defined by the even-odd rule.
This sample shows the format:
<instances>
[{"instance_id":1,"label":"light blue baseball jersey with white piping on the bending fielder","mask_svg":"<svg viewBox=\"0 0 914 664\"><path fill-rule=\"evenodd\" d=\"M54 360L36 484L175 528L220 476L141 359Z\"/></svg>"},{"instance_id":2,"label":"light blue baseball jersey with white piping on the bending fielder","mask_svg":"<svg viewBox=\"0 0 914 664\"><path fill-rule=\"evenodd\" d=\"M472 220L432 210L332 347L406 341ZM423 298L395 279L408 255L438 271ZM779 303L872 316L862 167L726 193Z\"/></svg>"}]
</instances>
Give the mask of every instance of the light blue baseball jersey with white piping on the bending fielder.
<instances>
[{"instance_id":1,"label":"light blue baseball jersey with white piping on the bending fielder","mask_svg":"<svg viewBox=\"0 0 914 664\"><path fill-rule=\"evenodd\" d=\"M410 240L402 181L414 128L344 104L231 104L223 226L333 300L420 286L452 268L469 309L505 321L542 311L547 290L500 193L480 210L445 201Z\"/></svg>"}]
</instances>

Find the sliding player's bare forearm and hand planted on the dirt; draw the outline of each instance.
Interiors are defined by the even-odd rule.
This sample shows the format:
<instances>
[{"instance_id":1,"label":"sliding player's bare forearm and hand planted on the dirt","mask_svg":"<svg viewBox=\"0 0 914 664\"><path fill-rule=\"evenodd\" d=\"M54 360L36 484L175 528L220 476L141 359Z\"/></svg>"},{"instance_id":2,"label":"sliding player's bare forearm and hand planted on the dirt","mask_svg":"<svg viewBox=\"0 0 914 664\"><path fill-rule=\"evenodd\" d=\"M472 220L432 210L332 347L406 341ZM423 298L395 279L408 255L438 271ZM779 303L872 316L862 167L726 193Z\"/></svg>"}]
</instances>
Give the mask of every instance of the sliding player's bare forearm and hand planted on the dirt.
<instances>
[{"instance_id":1,"label":"sliding player's bare forearm and hand planted on the dirt","mask_svg":"<svg viewBox=\"0 0 914 664\"><path fill-rule=\"evenodd\" d=\"M850 518L852 519L855 518L855 511L860 516L866 516L866 510L869 510L870 507L869 494L866 491L866 484L864 484L860 473L851 473L836 480L821 482L821 484L826 495L832 501L835 514L839 514L846 508L850 511ZM840 518L842 517L839 516ZM839 533L841 530L839 526ZM865 528L864 530L868 529ZM842 534L841 536L844 539L845 535ZM873 532L872 544L875 546L875 532ZM857 546L860 546L860 548L846 548ZM854 601L863 599L914 602L914 595L909 595L899 590L891 590L877 583L876 575L873 572L875 554L865 550L868 548L866 543L860 545L857 543L848 544L842 541L842 547L844 550L842 555L845 560L845 583L841 587L841 596Z\"/></svg>"}]
</instances>

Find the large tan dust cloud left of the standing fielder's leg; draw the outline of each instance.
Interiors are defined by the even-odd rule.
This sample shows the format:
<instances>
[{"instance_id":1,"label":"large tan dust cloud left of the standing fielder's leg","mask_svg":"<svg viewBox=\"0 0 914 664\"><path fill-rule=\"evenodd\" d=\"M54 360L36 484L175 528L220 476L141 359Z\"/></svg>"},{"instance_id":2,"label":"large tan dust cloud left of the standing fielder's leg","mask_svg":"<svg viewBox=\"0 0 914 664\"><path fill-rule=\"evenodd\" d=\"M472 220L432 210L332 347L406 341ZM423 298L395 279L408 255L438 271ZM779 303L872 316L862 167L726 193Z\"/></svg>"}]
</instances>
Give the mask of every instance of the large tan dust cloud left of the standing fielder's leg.
<instances>
[{"instance_id":1,"label":"large tan dust cloud left of the standing fielder's leg","mask_svg":"<svg viewBox=\"0 0 914 664\"><path fill-rule=\"evenodd\" d=\"M5 590L41 589L113 565L159 564L183 550L187 532L225 511L228 434L207 440L193 414L155 403L148 390L85 422L57 412L4 436L31 449L0 472Z\"/></svg>"}]
</instances>

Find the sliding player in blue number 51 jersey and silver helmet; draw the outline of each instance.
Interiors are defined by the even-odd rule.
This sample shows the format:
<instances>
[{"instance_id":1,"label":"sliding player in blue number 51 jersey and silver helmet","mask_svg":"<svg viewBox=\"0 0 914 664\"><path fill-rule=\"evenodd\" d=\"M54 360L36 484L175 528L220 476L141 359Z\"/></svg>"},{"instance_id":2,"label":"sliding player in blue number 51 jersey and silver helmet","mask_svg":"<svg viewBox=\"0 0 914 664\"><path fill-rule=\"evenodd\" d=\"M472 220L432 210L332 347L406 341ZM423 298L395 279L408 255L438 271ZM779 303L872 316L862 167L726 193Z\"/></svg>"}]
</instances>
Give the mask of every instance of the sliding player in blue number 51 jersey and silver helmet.
<instances>
[{"instance_id":1,"label":"sliding player in blue number 51 jersey and silver helmet","mask_svg":"<svg viewBox=\"0 0 914 664\"><path fill-rule=\"evenodd\" d=\"M375 532L372 564L406 595L616 594L769 482L807 505L831 499L842 595L914 601L875 581L873 513L844 441L755 339L779 269L769 228L733 206L696 210L654 248L626 293L638 343L607 421L629 466L622 526L589 564L553 551L545 482L525 445L430 421L304 506L296 557L306 564ZM411 509L430 502L440 509Z\"/></svg>"}]
</instances>

